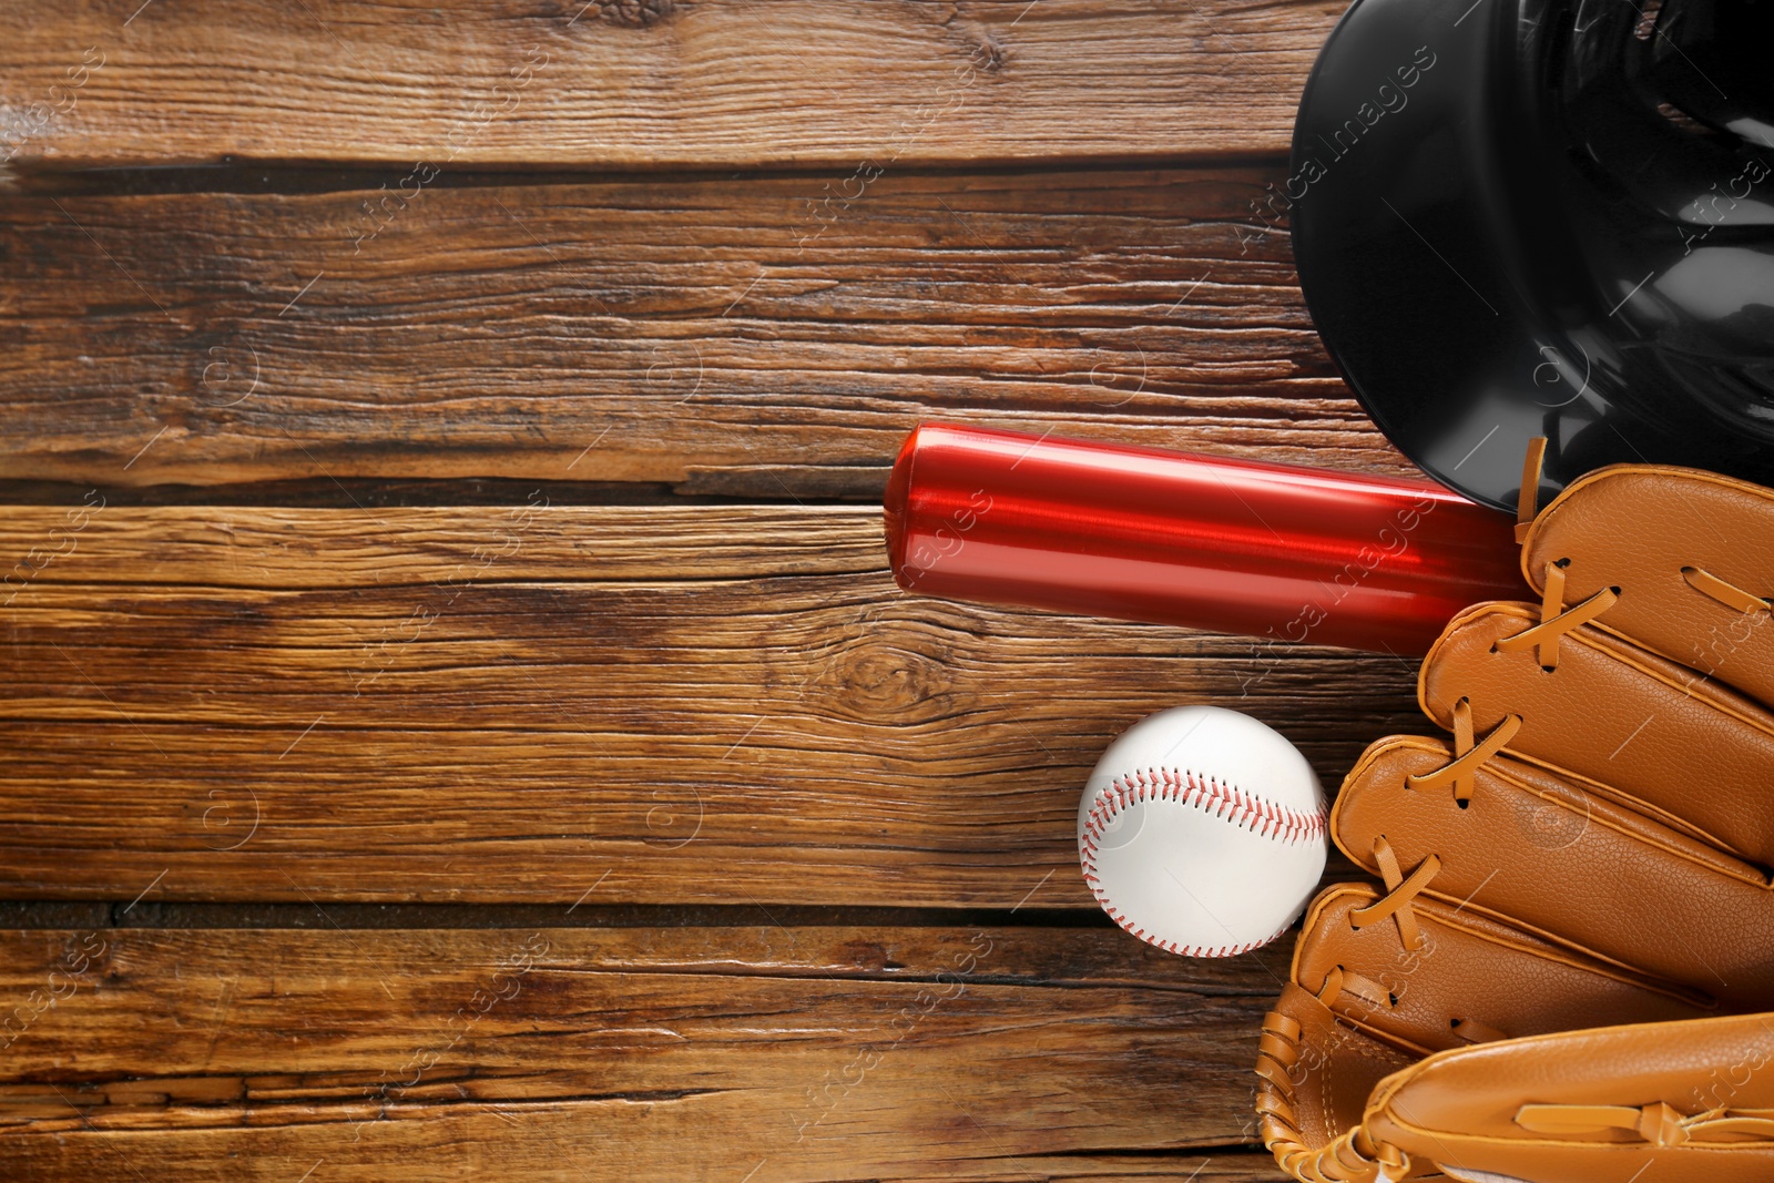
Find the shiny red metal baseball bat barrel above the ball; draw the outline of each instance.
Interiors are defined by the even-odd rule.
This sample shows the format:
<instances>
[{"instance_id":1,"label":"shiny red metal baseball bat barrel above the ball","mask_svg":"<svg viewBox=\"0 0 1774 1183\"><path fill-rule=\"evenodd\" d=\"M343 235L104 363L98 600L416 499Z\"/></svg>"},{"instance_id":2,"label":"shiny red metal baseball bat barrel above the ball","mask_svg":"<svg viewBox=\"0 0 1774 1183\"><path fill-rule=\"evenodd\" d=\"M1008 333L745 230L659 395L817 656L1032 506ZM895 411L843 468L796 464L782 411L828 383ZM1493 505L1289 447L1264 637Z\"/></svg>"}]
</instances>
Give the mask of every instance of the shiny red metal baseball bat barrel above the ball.
<instances>
[{"instance_id":1,"label":"shiny red metal baseball bat barrel above the ball","mask_svg":"<svg viewBox=\"0 0 1774 1183\"><path fill-rule=\"evenodd\" d=\"M1423 654L1527 594L1511 520L1426 481L922 424L883 509L947 599Z\"/></svg>"}]
</instances>

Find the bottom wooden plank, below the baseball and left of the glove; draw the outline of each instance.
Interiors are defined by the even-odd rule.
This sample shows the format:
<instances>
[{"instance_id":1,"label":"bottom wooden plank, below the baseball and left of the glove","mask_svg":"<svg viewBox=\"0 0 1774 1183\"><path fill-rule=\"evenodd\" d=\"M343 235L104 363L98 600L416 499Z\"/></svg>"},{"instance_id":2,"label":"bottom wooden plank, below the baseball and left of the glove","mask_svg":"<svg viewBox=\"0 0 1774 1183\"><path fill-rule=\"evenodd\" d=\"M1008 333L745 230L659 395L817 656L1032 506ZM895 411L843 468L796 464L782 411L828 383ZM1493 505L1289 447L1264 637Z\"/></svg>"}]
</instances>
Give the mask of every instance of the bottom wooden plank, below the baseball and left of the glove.
<instances>
[{"instance_id":1,"label":"bottom wooden plank, below the baseball and left of the glove","mask_svg":"<svg viewBox=\"0 0 1774 1183\"><path fill-rule=\"evenodd\" d=\"M1187 1178L1203 1155L1157 1155L1251 1142L1284 970L1114 929L14 931L0 1162L985 1179L1135 1151ZM1197 1178L1276 1178L1249 1165Z\"/></svg>"}]
</instances>

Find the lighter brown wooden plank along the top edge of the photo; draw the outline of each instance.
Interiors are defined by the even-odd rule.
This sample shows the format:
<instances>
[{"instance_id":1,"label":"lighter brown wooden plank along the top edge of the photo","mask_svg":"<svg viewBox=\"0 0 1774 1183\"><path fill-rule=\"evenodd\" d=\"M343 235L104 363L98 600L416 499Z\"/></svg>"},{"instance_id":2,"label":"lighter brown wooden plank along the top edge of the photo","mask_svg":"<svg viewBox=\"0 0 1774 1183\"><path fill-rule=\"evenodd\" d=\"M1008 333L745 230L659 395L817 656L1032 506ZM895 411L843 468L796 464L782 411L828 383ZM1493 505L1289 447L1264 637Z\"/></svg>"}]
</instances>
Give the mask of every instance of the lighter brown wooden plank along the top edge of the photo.
<instances>
[{"instance_id":1,"label":"lighter brown wooden plank along the top edge of the photo","mask_svg":"<svg viewBox=\"0 0 1774 1183\"><path fill-rule=\"evenodd\" d=\"M1002 163L1284 153L1327 0L76 0L4 20L60 167Z\"/></svg>"}]
</instances>

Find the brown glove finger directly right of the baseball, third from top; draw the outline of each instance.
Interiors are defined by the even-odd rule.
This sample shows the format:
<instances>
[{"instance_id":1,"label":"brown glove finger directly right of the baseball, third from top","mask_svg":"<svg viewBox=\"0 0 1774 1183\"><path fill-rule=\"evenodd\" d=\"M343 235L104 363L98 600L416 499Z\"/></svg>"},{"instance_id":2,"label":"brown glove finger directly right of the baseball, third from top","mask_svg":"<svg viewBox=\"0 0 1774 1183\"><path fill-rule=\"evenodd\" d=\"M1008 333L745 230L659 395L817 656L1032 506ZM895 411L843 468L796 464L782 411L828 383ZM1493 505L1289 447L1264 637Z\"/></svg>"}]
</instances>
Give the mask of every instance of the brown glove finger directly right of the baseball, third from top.
<instances>
[{"instance_id":1,"label":"brown glove finger directly right of the baseball, third from top","mask_svg":"<svg viewBox=\"0 0 1774 1183\"><path fill-rule=\"evenodd\" d=\"M1433 855L1432 897L1731 1011L1774 1002L1774 897L1760 871L1602 786L1506 756L1478 768L1465 809L1446 787L1412 787L1448 759L1416 736L1370 747L1332 809L1336 844L1375 874L1382 841L1405 874Z\"/></svg>"}]
</instances>

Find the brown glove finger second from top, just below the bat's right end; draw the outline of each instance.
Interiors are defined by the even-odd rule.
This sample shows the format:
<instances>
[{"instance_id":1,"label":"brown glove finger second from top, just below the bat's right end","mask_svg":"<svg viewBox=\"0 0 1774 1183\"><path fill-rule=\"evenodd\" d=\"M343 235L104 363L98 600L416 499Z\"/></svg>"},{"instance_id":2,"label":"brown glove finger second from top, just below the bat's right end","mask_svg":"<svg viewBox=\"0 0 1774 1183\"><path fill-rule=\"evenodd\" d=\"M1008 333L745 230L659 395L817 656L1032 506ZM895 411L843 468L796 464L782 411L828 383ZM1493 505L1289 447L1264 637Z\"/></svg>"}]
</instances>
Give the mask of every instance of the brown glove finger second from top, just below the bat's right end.
<instances>
[{"instance_id":1,"label":"brown glove finger second from top, just below the bat's right end","mask_svg":"<svg viewBox=\"0 0 1774 1183\"><path fill-rule=\"evenodd\" d=\"M1588 624L1559 639L1550 672L1533 647L1497 647L1538 615L1520 603L1456 615L1423 662L1423 711L1453 731L1464 701L1478 734L1519 717L1511 754L1593 780L1747 862L1774 864L1774 715Z\"/></svg>"}]
</instances>

